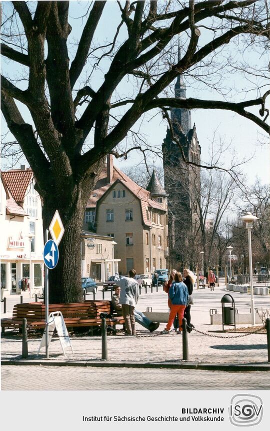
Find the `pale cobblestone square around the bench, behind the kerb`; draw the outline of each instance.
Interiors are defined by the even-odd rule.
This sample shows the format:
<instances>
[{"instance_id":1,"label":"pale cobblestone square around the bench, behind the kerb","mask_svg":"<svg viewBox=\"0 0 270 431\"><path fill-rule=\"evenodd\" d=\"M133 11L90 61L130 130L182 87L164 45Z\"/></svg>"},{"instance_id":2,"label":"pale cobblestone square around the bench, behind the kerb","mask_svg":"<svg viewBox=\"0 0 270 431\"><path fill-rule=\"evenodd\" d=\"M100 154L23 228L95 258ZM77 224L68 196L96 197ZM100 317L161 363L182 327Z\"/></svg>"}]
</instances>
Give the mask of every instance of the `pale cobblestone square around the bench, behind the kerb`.
<instances>
[{"instance_id":1,"label":"pale cobblestone square around the bench, behind the kerb","mask_svg":"<svg viewBox=\"0 0 270 431\"><path fill-rule=\"evenodd\" d=\"M152 307L152 311L167 311L167 295L161 291L144 293L138 301L138 309L145 310L147 306ZM105 299L110 297L109 292L105 292ZM209 308L217 308L221 312L220 298L226 293L225 286L216 287L213 292L210 289L194 289L194 305L191 308L192 322L195 328L205 333L208 331L220 330L221 325L210 325ZM23 302L29 298L24 293ZM101 291L98 291L100 298ZM97 295L97 299L100 299ZM92 295L87 295L92 297ZM235 306L238 312L249 313L249 295L233 292ZM18 301L19 296L15 295L7 298L7 313L2 317L12 315L13 304ZM255 297L255 306L270 307L270 297ZM2 303L1 303L2 308ZM246 326L246 325L242 325ZM165 327L160 324L158 332ZM171 361L182 358L181 335L168 334L155 336L149 331L141 331L141 326L137 325L139 335L144 337L124 337L122 335L108 336L108 358L113 361ZM211 333L215 336L207 336L195 331L188 335L189 360L196 362L215 362L215 363L239 363L239 362L266 362L267 344L266 334L248 334L240 336L234 333ZM234 336L237 335L237 338ZM218 336L218 338L216 337ZM233 337L233 338L228 338ZM28 353L30 359L36 358L36 352L40 343L39 339L28 340ZM101 337L71 337L74 354L68 353L64 358L59 340L52 339L50 345L50 358L66 361L87 361L99 360L101 358ZM21 337L8 336L8 331L1 338L1 357L2 359L19 359L21 357ZM44 349L39 358L44 358Z\"/></svg>"}]
</instances>

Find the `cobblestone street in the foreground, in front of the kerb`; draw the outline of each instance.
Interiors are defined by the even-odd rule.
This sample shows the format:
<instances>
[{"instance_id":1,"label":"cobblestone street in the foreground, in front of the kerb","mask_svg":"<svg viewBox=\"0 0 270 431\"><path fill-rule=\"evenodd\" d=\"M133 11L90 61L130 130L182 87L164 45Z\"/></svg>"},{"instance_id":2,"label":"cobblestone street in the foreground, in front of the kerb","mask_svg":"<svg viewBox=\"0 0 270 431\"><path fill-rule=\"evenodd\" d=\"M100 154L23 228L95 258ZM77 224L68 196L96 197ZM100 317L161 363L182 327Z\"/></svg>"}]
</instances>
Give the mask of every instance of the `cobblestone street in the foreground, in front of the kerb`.
<instances>
[{"instance_id":1,"label":"cobblestone street in the foreground, in front of the kerb","mask_svg":"<svg viewBox=\"0 0 270 431\"><path fill-rule=\"evenodd\" d=\"M130 376L132 378L130 379ZM117 381L117 384L116 384ZM1 367L2 390L269 389L270 374L176 369Z\"/></svg>"}]
</instances>

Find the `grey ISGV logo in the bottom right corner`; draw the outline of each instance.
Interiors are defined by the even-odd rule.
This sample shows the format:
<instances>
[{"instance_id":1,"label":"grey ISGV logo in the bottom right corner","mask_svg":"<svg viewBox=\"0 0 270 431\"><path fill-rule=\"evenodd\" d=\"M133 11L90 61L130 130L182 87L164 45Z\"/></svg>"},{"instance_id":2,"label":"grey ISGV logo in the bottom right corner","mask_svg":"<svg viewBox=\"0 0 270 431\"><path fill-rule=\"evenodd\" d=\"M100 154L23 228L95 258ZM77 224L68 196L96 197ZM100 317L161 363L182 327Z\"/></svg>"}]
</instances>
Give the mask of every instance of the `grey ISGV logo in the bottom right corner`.
<instances>
[{"instance_id":1,"label":"grey ISGV logo in the bottom right corner","mask_svg":"<svg viewBox=\"0 0 270 431\"><path fill-rule=\"evenodd\" d=\"M262 399L257 395L239 393L230 400L229 420L235 426L257 425L263 414Z\"/></svg>"}]
</instances>

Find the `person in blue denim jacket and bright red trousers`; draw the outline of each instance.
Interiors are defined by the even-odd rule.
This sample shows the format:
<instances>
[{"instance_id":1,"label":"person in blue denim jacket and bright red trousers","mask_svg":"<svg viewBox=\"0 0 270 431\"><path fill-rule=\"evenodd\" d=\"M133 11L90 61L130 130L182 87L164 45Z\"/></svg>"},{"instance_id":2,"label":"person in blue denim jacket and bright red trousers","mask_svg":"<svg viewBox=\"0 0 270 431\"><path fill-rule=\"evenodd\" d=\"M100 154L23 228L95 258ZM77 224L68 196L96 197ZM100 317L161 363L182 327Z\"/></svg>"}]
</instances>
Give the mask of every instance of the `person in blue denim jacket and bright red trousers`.
<instances>
[{"instance_id":1,"label":"person in blue denim jacket and bright red trousers","mask_svg":"<svg viewBox=\"0 0 270 431\"><path fill-rule=\"evenodd\" d=\"M178 315L179 328L177 330L177 334L182 332L182 328L180 322L182 321L184 309L188 303L188 290L186 285L182 281L182 274L180 272L176 272L174 275L174 281L171 283L169 288L169 298L171 300L171 308L168 318L168 323L160 332L160 334L168 334L176 314Z\"/></svg>"}]
</instances>

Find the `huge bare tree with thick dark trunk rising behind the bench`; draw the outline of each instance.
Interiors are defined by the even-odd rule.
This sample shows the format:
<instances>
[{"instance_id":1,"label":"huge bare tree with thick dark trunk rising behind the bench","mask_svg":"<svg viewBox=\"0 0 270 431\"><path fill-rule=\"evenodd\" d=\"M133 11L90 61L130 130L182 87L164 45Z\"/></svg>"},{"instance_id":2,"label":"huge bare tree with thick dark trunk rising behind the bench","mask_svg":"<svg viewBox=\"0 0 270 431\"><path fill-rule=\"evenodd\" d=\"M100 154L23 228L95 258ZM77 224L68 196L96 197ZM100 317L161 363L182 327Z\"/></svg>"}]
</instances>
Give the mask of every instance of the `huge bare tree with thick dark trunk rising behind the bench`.
<instances>
[{"instance_id":1,"label":"huge bare tree with thick dark trunk rising behind the bench","mask_svg":"<svg viewBox=\"0 0 270 431\"><path fill-rule=\"evenodd\" d=\"M94 35L109 3L92 3L72 55L69 2L11 2L11 9L9 3L2 4L1 54L15 67L14 76L8 72L1 77L1 110L33 170L43 202L43 228L56 209L65 228L58 264L49 272L52 302L81 299L79 237L84 206L104 156L115 151L126 155L129 149L124 140L145 113L156 108L164 113L171 107L225 109L268 131L265 98L269 92L240 102L237 98L228 102L219 97L164 97L179 73L195 77L198 70L199 80L210 67L208 84L212 85L214 71L223 68L225 72L227 67L225 56L219 53L228 44L242 41L258 47L262 42L265 46L269 29L263 3L126 1L117 5L115 34L110 42L97 46ZM206 43L199 28L208 34ZM183 40L183 56L175 63L171 54L178 35ZM95 74L102 68L106 70L100 83ZM127 78L134 84L130 98L120 91ZM28 116L17 102L25 106ZM261 118L248 110L252 107L259 109ZM85 143L88 147L83 147Z\"/></svg>"}]
</instances>

